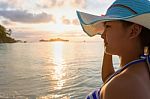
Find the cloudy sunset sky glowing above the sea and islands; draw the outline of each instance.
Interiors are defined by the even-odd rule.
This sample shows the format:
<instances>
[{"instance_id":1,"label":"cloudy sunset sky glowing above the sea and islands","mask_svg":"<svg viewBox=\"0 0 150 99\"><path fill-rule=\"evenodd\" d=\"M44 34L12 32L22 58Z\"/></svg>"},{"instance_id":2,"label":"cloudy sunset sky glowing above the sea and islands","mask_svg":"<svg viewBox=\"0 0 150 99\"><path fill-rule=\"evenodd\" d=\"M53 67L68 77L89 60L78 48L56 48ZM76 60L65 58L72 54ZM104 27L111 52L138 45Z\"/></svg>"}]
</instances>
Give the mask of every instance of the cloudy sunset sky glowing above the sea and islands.
<instances>
[{"instance_id":1,"label":"cloudy sunset sky glowing above the sea and islands","mask_svg":"<svg viewBox=\"0 0 150 99\"><path fill-rule=\"evenodd\" d=\"M88 38L79 24L76 10L101 15L113 1L0 0L0 24L11 29L12 37L19 40Z\"/></svg>"}]
</instances>

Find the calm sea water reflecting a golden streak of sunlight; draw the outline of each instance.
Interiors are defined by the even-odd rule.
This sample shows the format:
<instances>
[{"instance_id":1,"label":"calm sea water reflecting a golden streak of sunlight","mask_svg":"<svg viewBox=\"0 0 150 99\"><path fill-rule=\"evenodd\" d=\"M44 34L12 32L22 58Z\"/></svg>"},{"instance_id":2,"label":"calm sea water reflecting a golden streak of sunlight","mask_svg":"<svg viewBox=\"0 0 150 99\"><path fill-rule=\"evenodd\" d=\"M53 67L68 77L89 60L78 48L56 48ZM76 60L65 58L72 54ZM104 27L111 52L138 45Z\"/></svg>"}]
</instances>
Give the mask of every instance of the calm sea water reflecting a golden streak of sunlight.
<instances>
[{"instance_id":1,"label":"calm sea water reflecting a golden streak of sunlight","mask_svg":"<svg viewBox=\"0 0 150 99\"><path fill-rule=\"evenodd\" d=\"M103 52L101 41L0 44L0 98L84 99L102 85Z\"/></svg>"}]
</instances>

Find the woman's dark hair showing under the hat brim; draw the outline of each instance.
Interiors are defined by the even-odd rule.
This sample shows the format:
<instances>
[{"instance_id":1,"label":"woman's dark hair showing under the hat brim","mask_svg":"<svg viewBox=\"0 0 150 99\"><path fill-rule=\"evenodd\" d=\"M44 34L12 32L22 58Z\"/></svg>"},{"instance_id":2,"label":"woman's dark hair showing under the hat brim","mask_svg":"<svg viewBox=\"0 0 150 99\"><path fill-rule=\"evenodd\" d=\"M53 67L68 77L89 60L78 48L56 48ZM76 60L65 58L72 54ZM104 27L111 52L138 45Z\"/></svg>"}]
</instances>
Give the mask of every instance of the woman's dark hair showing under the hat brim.
<instances>
[{"instance_id":1,"label":"woman's dark hair showing under the hat brim","mask_svg":"<svg viewBox=\"0 0 150 99\"><path fill-rule=\"evenodd\" d=\"M122 20L121 20L121 22L123 23L124 27L129 27L132 24L134 24L132 22L122 21ZM142 27L142 31L141 31L139 37L141 40L142 47L144 48L145 46L147 46L150 49L150 29Z\"/></svg>"}]
</instances>

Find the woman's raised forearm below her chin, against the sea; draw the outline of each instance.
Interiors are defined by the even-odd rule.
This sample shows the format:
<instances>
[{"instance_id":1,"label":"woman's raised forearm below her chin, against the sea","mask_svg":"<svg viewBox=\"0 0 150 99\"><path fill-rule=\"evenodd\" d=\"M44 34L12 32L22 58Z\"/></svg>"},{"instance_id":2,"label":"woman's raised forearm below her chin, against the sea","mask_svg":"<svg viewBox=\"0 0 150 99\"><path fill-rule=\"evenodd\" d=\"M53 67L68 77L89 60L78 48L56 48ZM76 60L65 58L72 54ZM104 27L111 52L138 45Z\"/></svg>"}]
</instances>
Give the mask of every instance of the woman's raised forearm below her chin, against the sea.
<instances>
[{"instance_id":1,"label":"woman's raised forearm below her chin, against the sea","mask_svg":"<svg viewBox=\"0 0 150 99\"><path fill-rule=\"evenodd\" d=\"M104 53L102 64L102 80L105 82L115 72L112 64L112 55Z\"/></svg>"}]
</instances>

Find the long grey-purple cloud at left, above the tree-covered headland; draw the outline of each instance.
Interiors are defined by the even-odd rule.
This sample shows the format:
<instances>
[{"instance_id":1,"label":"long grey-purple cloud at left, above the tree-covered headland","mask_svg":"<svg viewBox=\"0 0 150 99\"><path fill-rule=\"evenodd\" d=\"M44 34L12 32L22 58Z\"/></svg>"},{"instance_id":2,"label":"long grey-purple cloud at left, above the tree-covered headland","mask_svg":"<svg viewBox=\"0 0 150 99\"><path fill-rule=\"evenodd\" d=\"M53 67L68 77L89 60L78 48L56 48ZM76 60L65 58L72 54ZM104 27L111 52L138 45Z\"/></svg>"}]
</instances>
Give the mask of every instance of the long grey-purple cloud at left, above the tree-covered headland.
<instances>
[{"instance_id":1,"label":"long grey-purple cloud at left, above the tree-covered headland","mask_svg":"<svg viewBox=\"0 0 150 99\"><path fill-rule=\"evenodd\" d=\"M47 13L32 14L21 10L0 10L0 16L9 19L13 22L20 23L47 23L55 22L52 15Z\"/></svg>"}]
</instances>

